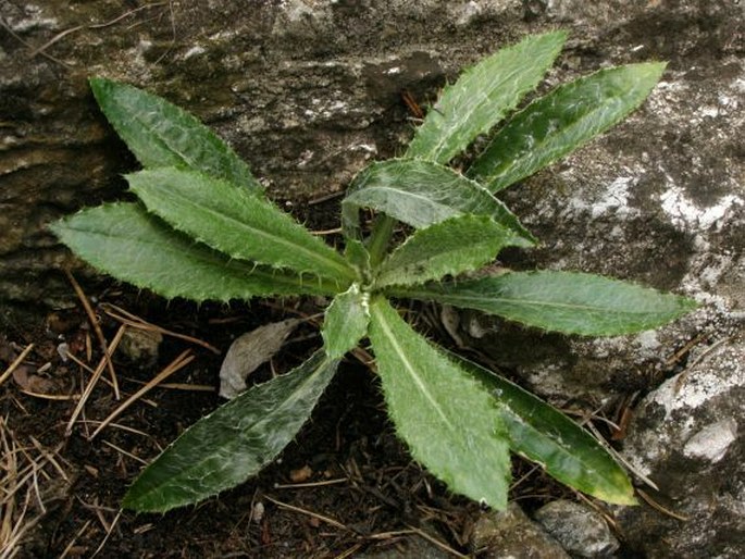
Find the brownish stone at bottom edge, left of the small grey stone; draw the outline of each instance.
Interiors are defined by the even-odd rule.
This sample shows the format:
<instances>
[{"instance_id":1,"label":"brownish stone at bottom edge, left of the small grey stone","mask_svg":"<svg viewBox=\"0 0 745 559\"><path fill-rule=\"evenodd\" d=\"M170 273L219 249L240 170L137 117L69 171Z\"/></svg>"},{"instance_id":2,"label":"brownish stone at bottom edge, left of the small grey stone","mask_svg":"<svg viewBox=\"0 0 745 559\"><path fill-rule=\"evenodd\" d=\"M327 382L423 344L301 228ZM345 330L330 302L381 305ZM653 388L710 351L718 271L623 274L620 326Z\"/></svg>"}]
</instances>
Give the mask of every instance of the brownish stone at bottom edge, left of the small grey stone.
<instances>
[{"instance_id":1,"label":"brownish stone at bottom edge, left of the small grey stone","mask_svg":"<svg viewBox=\"0 0 745 559\"><path fill-rule=\"evenodd\" d=\"M473 526L470 547L482 559L569 559L569 556L516 502L486 512Z\"/></svg>"}]
</instances>

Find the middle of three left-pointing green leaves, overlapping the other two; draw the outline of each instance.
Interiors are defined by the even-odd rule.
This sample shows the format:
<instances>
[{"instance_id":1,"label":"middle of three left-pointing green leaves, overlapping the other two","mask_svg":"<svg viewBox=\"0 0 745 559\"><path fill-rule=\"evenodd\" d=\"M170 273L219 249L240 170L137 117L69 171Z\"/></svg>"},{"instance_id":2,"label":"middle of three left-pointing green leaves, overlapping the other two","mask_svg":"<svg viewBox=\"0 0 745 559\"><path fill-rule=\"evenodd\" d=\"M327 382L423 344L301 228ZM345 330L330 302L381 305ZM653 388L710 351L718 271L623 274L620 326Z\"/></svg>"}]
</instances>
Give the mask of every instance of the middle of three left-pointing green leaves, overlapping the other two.
<instances>
[{"instance_id":1,"label":"middle of three left-pointing green leaves, overlapping the other two","mask_svg":"<svg viewBox=\"0 0 745 559\"><path fill-rule=\"evenodd\" d=\"M229 257L339 282L356 278L342 254L234 184L174 167L140 171L127 181L149 211Z\"/></svg>"}]
</instances>

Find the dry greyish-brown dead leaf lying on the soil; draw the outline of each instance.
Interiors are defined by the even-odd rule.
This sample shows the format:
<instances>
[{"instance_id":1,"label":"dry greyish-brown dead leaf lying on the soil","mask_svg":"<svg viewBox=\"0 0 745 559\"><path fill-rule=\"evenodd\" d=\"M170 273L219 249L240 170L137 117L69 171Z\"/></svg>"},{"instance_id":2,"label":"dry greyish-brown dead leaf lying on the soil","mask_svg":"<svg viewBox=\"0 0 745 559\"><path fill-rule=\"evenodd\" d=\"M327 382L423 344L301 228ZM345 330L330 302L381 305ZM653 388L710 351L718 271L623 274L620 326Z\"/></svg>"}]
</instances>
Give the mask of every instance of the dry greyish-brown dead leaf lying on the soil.
<instances>
[{"instance_id":1,"label":"dry greyish-brown dead leaf lying on the soil","mask_svg":"<svg viewBox=\"0 0 745 559\"><path fill-rule=\"evenodd\" d=\"M282 349L300 322L299 319L270 322L235 338L220 365L220 396L232 400L243 393L248 375Z\"/></svg>"}]
</instances>

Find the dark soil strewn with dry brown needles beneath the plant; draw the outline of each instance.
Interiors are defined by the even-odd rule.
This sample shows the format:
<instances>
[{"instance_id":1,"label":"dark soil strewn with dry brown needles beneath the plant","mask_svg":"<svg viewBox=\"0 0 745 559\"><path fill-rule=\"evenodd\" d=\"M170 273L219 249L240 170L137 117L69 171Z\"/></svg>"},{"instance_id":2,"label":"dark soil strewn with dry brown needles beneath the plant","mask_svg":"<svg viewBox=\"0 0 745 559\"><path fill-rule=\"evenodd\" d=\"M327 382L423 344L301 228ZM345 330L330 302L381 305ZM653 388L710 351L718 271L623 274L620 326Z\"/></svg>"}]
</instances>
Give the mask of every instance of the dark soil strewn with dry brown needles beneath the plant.
<instances>
[{"instance_id":1,"label":"dark soil strewn with dry brown needles beneath the plant","mask_svg":"<svg viewBox=\"0 0 745 559\"><path fill-rule=\"evenodd\" d=\"M300 300L197 308L115 284L86 296L109 345L126 311L223 352L236 334L319 310L313 301ZM139 332L142 326L124 324ZM62 341L80 364L63 361ZM253 381L288 371L319 343L316 328L301 326L269 365L251 375ZM157 361L144 363L148 351L137 355L120 344L112 360L120 400L104 372L66 435L90 380L88 370L102 356L83 306L49 314L35 332L10 332L0 346L0 369L29 347L0 387L2 557L351 557L401 548L418 533L450 555L468 552L479 506L448 495L411 461L386 420L374 375L351 358L296 442L257 479L196 507L137 515L120 510L126 487L160 449L221 403L222 357L165 335ZM183 351L194 360L91 438L102 420ZM526 464L517 468L530 471ZM556 495L541 474L530 477L513 498L541 504L549 497L544 492ZM543 487L538 494L536 487Z\"/></svg>"}]
</instances>

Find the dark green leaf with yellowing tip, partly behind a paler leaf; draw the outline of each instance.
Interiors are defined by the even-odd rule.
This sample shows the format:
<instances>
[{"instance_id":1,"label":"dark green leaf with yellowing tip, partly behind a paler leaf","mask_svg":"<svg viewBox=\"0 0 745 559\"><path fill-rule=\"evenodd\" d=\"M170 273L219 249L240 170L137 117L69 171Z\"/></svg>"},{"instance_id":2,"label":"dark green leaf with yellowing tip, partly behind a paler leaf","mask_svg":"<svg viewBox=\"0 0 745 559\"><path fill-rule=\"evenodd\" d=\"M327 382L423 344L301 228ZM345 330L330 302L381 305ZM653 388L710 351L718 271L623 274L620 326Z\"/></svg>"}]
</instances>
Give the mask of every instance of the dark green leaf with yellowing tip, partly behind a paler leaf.
<instances>
[{"instance_id":1,"label":"dark green leaf with yellowing tip, partly behind a paler leaf","mask_svg":"<svg viewBox=\"0 0 745 559\"><path fill-rule=\"evenodd\" d=\"M507 378L461 357L451 357L484 383L500 403L512 451L593 497L617 505L636 504L623 468L576 422Z\"/></svg>"}]
</instances>

